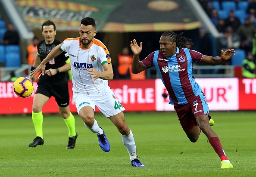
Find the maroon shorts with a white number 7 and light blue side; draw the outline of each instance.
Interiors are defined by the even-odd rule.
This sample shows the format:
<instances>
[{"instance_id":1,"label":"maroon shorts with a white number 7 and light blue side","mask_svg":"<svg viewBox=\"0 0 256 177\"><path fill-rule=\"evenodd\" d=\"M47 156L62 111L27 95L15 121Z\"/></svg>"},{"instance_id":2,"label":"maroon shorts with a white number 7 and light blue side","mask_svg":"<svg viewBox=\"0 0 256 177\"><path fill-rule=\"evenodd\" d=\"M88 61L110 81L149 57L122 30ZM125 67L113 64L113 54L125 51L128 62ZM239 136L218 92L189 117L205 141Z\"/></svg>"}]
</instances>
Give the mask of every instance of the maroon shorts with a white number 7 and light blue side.
<instances>
[{"instance_id":1,"label":"maroon shorts with a white number 7 and light blue side","mask_svg":"<svg viewBox=\"0 0 256 177\"><path fill-rule=\"evenodd\" d=\"M211 119L208 104L203 94L196 96L195 99L185 105L174 106L174 109L184 131L191 130L195 125L197 125L196 117L198 115L205 114L208 115L209 120Z\"/></svg>"}]
</instances>

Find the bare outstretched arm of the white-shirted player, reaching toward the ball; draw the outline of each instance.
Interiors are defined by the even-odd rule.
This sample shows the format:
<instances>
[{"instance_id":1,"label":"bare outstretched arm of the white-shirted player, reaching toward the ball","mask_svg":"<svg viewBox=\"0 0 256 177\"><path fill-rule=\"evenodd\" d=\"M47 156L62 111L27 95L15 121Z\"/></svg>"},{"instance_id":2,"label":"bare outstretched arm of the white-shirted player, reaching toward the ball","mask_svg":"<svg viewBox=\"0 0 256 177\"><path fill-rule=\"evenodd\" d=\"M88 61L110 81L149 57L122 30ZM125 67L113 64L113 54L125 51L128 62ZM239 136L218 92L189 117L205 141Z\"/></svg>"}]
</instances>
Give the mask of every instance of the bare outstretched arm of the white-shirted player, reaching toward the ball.
<instances>
[{"instance_id":1,"label":"bare outstretched arm of the white-shirted player, reaching toward the ball","mask_svg":"<svg viewBox=\"0 0 256 177\"><path fill-rule=\"evenodd\" d=\"M31 77L34 77L39 71L42 71L42 75L44 75L46 63L63 52L60 49L60 46L61 46L61 44L54 47L53 50L47 55L47 57L45 57L45 59L43 59L43 61L40 63L40 65L37 66L37 68L35 68L33 71L30 72Z\"/></svg>"}]
</instances>

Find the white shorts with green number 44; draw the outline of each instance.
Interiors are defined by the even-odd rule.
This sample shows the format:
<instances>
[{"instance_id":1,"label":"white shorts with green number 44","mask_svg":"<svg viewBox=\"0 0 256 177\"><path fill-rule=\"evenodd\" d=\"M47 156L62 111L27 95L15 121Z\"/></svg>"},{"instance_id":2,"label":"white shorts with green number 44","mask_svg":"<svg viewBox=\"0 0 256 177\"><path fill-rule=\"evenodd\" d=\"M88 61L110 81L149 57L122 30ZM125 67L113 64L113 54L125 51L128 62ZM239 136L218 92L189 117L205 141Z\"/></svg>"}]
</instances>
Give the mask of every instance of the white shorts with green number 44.
<instances>
[{"instance_id":1,"label":"white shorts with green number 44","mask_svg":"<svg viewBox=\"0 0 256 177\"><path fill-rule=\"evenodd\" d=\"M77 95L74 94L73 99L78 114L84 106L91 106L94 111L95 106L97 106L100 109L100 112L102 112L102 114L105 115L107 118L124 111L125 108L122 106L121 102L116 99L116 96L114 95L112 90L109 90L107 89L106 92L94 95L87 95L83 93L79 93Z\"/></svg>"}]
</instances>

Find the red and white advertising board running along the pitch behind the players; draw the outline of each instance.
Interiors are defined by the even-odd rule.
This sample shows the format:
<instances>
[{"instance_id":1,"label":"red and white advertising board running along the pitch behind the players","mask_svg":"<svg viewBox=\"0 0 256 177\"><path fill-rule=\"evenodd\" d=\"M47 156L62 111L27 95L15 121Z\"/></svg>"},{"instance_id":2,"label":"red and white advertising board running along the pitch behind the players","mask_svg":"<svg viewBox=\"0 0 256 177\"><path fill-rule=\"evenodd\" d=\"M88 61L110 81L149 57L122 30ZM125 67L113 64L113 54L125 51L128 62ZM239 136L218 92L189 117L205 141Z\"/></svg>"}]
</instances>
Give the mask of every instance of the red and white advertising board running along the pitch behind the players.
<instances>
[{"instance_id":1,"label":"red and white advertising board running along the pitch behind the players","mask_svg":"<svg viewBox=\"0 0 256 177\"><path fill-rule=\"evenodd\" d=\"M197 78L205 93L210 111L215 110L256 110L256 79L238 78ZM173 111L161 79L144 81L114 80L109 86L126 111ZM34 93L37 83L34 83ZM70 111L77 112L72 99L72 81L69 81ZM0 82L0 115L32 112L34 93L20 98L13 92L13 82ZM58 113L52 97L44 106L44 113ZM96 109L96 112L99 110Z\"/></svg>"}]
</instances>

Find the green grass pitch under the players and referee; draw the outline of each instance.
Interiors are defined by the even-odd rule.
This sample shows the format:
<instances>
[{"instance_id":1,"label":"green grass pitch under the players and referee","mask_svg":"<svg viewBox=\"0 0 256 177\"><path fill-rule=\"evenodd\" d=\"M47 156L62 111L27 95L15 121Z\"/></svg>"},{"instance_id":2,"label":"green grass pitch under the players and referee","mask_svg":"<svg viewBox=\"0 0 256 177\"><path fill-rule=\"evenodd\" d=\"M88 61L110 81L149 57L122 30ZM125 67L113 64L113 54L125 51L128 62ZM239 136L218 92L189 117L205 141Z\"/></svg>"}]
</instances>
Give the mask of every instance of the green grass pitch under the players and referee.
<instances>
[{"instance_id":1,"label":"green grass pitch under the players and referee","mask_svg":"<svg viewBox=\"0 0 256 177\"><path fill-rule=\"evenodd\" d=\"M4 177L254 177L255 112L211 112L213 130L234 168L220 169L220 159L204 134L191 143L175 112L125 112L137 155L145 168L134 168L121 135L96 113L111 150L103 152L96 134L75 114L78 139L66 149L68 130L59 115L44 115L44 145L28 147L35 137L31 115L1 115L0 176Z\"/></svg>"}]
</instances>

